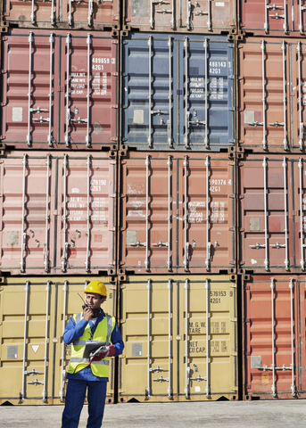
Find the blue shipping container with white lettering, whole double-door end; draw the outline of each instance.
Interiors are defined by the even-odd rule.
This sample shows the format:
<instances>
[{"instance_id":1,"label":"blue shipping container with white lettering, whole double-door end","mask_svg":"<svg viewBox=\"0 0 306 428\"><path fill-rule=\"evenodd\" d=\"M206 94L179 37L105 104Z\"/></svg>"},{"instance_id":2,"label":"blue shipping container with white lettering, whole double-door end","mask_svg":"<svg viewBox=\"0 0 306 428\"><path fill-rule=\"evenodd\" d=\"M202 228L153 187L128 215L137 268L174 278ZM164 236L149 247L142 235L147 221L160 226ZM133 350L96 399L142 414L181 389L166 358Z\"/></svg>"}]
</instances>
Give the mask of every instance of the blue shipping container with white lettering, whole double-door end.
<instances>
[{"instance_id":1,"label":"blue shipping container with white lettering, whole double-door end","mask_svg":"<svg viewBox=\"0 0 306 428\"><path fill-rule=\"evenodd\" d=\"M123 38L120 148L233 147L234 60L227 37L130 33Z\"/></svg>"}]
</instances>

